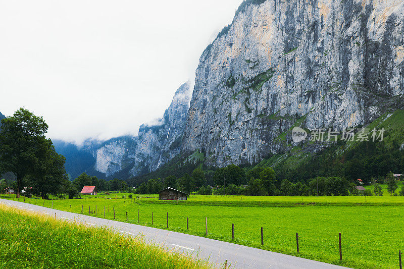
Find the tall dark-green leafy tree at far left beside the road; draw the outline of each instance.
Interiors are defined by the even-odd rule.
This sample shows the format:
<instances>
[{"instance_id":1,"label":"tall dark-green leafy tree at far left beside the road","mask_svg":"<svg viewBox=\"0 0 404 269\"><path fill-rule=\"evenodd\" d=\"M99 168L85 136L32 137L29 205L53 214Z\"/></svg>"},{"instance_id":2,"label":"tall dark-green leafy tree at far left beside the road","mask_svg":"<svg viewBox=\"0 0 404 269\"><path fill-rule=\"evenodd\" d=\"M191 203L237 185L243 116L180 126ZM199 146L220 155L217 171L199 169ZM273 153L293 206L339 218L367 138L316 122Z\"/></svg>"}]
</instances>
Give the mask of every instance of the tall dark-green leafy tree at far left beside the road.
<instances>
[{"instance_id":1,"label":"tall dark-green leafy tree at far left beside the road","mask_svg":"<svg viewBox=\"0 0 404 269\"><path fill-rule=\"evenodd\" d=\"M19 109L10 118L2 120L0 130L0 174L12 172L17 177L17 197L24 187L25 176L32 175L39 163L38 149L43 143L48 126L42 117L26 109Z\"/></svg>"}]
</instances>

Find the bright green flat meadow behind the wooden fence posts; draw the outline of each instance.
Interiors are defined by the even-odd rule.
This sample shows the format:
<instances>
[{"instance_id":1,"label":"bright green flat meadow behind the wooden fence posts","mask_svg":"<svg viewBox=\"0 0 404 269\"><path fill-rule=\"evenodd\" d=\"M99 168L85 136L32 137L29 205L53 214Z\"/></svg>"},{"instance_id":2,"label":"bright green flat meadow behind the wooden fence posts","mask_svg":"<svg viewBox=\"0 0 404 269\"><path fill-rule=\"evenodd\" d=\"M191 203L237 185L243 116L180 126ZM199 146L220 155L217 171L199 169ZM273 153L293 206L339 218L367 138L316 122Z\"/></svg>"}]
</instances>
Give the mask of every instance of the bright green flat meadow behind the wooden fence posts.
<instances>
[{"instance_id":1,"label":"bright green flat meadow behind the wooden fence posts","mask_svg":"<svg viewBox=\"0 0 404 269\"><path fill-rule=\"evenodd\" d=\"M149 195L150 196L150 195ZM2 196L4 197L4 196ZM122 197L122 196L121 196ZM136 196L134 196L136 197ZM365 202L365 199L367 202ZM23 201L23 198L20 198ZM34 203L34 200L25 202ZM404 225L404 197L191 196L188 201L142 199L45 200L44 206L208 237L356 268L396 268ZM125 204L124 204L125 202ZM386 203L387 202L387 203ZM42 205L43 200L37 200ZM71 207L70 207L71 206ZM69 209L70 208L70 209ZM189 218L189 230L186 230ZM235 226L232 240L231 224ZM264 246L261 246L261 227ZM300 253L296 253L296 232ZM343 260L339 261L338 233Z\"/></svg>"}]
</instances>

